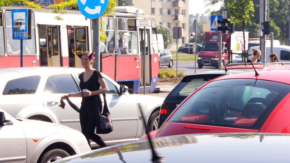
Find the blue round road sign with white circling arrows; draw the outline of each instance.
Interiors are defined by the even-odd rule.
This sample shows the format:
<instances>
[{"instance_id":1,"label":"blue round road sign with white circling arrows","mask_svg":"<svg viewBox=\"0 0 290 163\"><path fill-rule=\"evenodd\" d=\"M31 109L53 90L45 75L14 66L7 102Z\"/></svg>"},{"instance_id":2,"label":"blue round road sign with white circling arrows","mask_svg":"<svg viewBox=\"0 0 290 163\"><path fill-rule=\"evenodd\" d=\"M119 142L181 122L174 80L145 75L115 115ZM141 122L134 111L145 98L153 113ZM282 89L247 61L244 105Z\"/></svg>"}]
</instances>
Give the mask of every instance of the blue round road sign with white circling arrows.
<instances>
[{"instance_id":1,"label":"blue round road sign with white circling arrows","mask_svg":"<svg viewBox=\"0 0 290 163\"><path fill-rule=\"evenodd\" d=\"M78 0L79 10L89 19L101 17L108 8L109 0Z\"/></svg>"}]
</instances>

